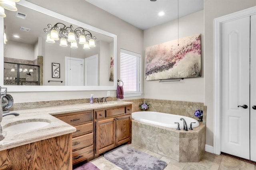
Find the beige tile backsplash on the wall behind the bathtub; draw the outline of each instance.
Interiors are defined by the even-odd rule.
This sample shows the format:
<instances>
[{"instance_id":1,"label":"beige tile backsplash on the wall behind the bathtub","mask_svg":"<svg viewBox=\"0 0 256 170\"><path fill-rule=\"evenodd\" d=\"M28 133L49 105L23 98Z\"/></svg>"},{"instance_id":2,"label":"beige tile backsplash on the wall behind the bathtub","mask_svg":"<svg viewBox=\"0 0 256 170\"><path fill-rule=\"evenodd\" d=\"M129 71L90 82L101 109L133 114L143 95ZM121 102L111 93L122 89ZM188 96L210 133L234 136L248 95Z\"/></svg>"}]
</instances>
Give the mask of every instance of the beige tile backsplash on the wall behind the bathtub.
<instances>
[{"instance_id":1,"label":"beige tile backsplash on the wall behind the bathtub","mask_svg":"<svg viewBox=\"0 0 256 170\"><path fill-rule=\"evenodd\" d=\"M207 107L204 106L204 103L199 102L190 102L190 101L173 101L173 100L160 100L160 99L133 99L133 100L124 100L133 102L132 112L141 111L139 105L141 102L146 101L147 104L150 104L148 111L160 112L160 113L169 113L173 115L181 115L186 117L191 117L198 120L194 116L194 113L199 108L204 111L203 116L203 125L206 125L206 111Z\"/></svg>"}]
</instances>

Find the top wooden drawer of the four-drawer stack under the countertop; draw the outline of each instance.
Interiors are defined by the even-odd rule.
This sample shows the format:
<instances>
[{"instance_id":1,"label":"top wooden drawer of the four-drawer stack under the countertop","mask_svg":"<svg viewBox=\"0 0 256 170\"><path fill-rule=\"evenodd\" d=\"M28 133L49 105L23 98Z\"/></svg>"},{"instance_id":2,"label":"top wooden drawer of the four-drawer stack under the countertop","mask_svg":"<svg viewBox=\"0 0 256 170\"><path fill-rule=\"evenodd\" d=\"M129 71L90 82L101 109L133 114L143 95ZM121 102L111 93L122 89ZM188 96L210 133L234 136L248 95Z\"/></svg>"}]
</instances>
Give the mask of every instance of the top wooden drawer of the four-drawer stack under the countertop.
<instances>
[{"instance_id":1,"label":"top wooden drawer of the four-drawer stack under the countertop","mask_svg":"<svg viewBox=\"0 0 256 170\"><path fill-rule=\"evenodd\" d=\"M90 112L90 113L82 113L82 114L58 117L58 119L68 123L69 125L76 126L76 125L81 125L86 122L92 121L93 117L92 117L92 112Z\"/></svg>"}]
</instances>

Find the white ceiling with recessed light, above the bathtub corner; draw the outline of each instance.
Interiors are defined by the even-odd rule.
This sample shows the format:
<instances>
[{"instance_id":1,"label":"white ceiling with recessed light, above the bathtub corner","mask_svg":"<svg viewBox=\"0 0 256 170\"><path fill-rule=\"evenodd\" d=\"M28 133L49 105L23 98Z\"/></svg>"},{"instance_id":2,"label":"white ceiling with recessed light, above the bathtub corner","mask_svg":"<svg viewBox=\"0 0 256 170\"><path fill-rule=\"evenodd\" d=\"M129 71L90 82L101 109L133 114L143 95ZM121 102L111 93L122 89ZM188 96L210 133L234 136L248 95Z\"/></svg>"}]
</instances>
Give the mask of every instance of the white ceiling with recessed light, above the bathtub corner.
<instances>
[{"instance_id":1,"label":"white ceiling with recessed light, above the bathtub corner","mask_svg":"<svg viewBox=\"0 0 256 170\"><path fill-rule=\"evenodd\" d=\"M164 24L204 9L204 0L86 0L114 16L140 28ZM179 7L179 8L178 8ZM165 12L158 16L158 12Z\"/></svg>"}]
</instances>

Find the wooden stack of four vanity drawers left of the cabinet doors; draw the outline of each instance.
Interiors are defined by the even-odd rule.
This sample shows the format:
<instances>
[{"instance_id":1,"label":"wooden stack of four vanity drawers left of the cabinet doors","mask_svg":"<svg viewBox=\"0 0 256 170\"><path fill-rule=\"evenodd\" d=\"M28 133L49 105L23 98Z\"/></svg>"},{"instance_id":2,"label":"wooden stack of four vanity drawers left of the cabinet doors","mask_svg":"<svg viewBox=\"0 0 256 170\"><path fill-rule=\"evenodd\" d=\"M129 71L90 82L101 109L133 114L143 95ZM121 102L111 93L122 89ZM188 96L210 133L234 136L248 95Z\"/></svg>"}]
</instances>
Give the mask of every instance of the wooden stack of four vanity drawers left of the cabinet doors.
<instances>
[{"instance_id":1,"label":"wooden stack of four vanity drawers left of the cabinet doors","mask_svg":"<svg viewBox=\"0 0 256 170\"><path fill-rule=\"evenodd\" d=\"M73 164L92 158L94 156L93 111L80 111L54 116L76 128L76 132L72 133Z\"/></svg>"}]
</instances>

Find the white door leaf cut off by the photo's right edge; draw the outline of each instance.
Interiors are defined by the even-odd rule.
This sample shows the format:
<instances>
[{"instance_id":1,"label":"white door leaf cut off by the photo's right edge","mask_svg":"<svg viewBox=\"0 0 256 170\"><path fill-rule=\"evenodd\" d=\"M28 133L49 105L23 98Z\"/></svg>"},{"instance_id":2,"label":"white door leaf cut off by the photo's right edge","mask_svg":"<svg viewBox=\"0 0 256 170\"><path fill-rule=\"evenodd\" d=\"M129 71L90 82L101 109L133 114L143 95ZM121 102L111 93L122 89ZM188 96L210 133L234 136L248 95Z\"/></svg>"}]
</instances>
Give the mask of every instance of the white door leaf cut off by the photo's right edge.
<instances>
[{"instance_id":1,"label":"white door leaf cut off by the photo's right edge","mask_svg":"<svg viewBox=\"0 0 256 170\"><path fill-rule=\"evenodd\" d=\"M251 16L250 55L250 147L251 159L256 161L256 15Z\"/></svg>"}]
</instances>

